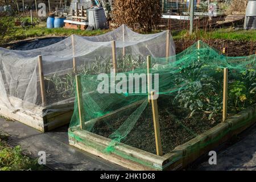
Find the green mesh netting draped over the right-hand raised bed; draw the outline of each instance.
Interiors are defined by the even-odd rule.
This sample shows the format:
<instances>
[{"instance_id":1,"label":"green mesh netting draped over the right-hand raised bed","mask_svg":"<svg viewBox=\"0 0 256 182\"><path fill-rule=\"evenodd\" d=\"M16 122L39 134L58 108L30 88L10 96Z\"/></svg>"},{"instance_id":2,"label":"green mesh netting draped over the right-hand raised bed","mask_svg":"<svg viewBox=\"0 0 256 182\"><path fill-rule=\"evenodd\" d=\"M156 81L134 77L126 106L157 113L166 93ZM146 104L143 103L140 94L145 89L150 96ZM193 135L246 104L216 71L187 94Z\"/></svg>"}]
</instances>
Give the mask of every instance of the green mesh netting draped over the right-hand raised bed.
<instances>
[{"instance_id":1,"label":"green mesh netting draped over the right-hand raised bed","mask_svg":"<svg viewBox=\"0 0 256 182\"><path fill-rule=\"evenodd\" d=\"M115 76L115 81L109 80L109 85L104 85L106 93L98 92L99 85L102 86L98 75L80 75L83 130L112 140L108 147L94 146L97 150L115 152L118 144L124 143L156 154L152 102L148 102L146 55L141 55L140 59L141 64L131 61L130 71L125 69L126 72ZM137 64L136 67L133 64ZM119 61L118 73L124 70L123 66L125 64ZM222 121L224 68L229 70L230 117L256 103L255 55L226 57L200 41L176 56L151 57L150 91L159 85L156 92L159 94L157 103L163 154ZM141 78L135 80L132 74L141 75ZM105 76L113 75L105 73ZM136 90L138 87L140 89ZM112 90L115 93L110 93ZM76 97L70 125L72 130L80 130L77 105ZM86 140L82 142L86 143Z\"/></svg>"}]
</instances>

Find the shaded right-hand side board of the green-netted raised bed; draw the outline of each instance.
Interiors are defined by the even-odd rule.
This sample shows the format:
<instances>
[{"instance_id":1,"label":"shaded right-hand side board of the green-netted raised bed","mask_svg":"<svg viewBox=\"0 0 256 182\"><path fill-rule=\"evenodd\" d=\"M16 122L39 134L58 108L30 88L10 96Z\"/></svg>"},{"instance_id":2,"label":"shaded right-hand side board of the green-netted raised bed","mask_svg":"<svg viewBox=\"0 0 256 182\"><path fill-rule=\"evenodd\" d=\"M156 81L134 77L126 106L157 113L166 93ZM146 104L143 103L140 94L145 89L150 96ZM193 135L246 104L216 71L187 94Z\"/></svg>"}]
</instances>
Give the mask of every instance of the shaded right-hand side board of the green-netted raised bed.
<instances>
[{"instance_id":1,"label":"shaded right-hand side board of the green-netted raised bed","mask_svg":"<svg viewBox=\"0 0 256 182\"><path fill-rule=\"evenodd\" d=\"M164 155L165 158L168 158L164 170L181 169L188 166L207 151L213 150L234 135L240 134L255 122L256 105L253 105Z\"/></svg>"}]
</instances>

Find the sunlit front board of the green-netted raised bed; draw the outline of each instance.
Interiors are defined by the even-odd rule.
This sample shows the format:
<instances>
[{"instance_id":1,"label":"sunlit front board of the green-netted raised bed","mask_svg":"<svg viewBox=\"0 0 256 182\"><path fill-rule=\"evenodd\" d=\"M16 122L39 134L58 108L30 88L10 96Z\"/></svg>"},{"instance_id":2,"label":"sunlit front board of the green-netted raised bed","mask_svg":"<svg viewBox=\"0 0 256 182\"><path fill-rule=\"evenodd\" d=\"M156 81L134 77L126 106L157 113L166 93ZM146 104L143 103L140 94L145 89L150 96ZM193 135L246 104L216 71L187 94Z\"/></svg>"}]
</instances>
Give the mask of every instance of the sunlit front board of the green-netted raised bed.
<instances>
[{"instance_id":1,"label":"sunlit front board of the green-netted raised bed","mask_svg":"<svg viewBox=\"0 0 256 182\"><path fill-rule=\"evenodd\" d=\"M118 146L115 147L114 152L107 153L104 152L104 150L108 147L110 139L89 133L88 131L84 133L86 138L85 135L81 136L81 133L69 129L69 144L132 170L162 170L162 163L167 160L161 156L127 146L123 143L119 143Z\"/></svg>"}]
</instances>

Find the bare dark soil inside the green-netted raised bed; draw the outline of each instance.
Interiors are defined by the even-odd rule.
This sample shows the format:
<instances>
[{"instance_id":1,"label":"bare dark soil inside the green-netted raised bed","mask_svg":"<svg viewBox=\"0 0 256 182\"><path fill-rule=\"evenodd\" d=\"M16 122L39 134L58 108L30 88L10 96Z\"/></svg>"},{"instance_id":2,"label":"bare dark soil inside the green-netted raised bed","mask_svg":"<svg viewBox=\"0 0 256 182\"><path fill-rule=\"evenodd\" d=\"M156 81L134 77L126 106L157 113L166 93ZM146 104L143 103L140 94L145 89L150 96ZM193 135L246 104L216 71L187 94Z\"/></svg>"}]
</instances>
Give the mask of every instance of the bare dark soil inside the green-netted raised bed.
<instances>
[{"instance_id":1,"label":"bare dark soil inside the green-netted raised bed","mask_svg":"<svg viewBox=\"0 0 256 182\"><path fill-rule=\"evenodd\" d=\"M192 117L188 117L191 113L189 109L181 109L172 106L171 103L171 98L164 98L158 101L163 154L167 154L171 150L174 150L176 146L188 142L197 135L204 133L204 131L216 126L221 121L221 114L215 115L214 119L210 120L208 119L208 114L204 113L195 113ZM92 132L106 138L111 138L110 135L113 134L137 108L138 107L125 110L122 113L112 115L112 117L96 122ZM120 142L156 154L151 105L148 105L138 118L134 117L129 124L123 128L122 133L117 133L114 138L122 137L125 130L127 129L129 131L130 128L130 133L127 134L125 138L121 139ZM111 139L113 139L113 137Z\"/></svg>"}]
</instances>

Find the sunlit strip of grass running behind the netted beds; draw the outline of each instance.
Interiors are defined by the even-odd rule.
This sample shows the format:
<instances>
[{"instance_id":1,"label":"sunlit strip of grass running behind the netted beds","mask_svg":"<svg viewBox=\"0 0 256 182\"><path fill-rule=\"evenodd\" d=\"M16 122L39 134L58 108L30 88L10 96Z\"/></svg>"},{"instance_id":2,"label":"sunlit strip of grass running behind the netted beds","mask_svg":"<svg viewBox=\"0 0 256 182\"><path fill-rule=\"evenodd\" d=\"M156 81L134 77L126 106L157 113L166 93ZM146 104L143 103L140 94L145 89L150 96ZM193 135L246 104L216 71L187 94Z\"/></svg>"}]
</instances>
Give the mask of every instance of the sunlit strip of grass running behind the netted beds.
<instances>
[{"instance_id":1,"label":"sunlit strip of grass running behind the netted beds","mask_svg":"<svg viewBox=\"0 0 256 182\"><path fill-rule=\"evenodd\" d=\"M35 27L14 27L13 30L7 34L3 40L10 42L13 40L23 40L27 38L36 38L40 36L70 36L72 34L80 36L95 36L102 35L110 30L72 30L66 28L46 28L46 22L41 22ZM159 30L154 30L151 34L155 34ZM212 31L199 30L192 35L188 34L187 30L172 32L174 39L188 39L188 40L209 40L209 39L224 39L224 40L253 40L256 41L256 30L236 30L234 28L218 28Z\"/></svg>"}]
</instances>

